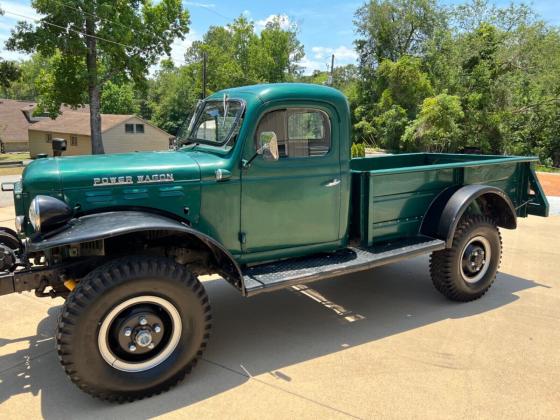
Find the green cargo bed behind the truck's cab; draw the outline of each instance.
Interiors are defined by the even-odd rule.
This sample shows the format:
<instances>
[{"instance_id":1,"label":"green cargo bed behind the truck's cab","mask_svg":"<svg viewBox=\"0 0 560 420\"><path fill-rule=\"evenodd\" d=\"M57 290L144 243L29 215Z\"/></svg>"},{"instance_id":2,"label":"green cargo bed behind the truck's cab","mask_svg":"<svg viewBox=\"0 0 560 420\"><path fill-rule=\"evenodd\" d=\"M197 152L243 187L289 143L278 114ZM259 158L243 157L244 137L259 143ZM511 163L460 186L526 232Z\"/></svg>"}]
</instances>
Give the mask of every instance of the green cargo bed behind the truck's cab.
<instances>
[{"instance_id":1,"label":"green cargo bed behind the truck's cab","mask_svg":"<svg viewBox=\"0 0 560 420\"><path fill-rule=\"evenodd\" d=\"M408 153L352 159L351 235L364 247L415 237L432 201L453 186L502 189L517 215L544 216L548 203L534 173L536 157Z\"/></svg>"}]
</instances>

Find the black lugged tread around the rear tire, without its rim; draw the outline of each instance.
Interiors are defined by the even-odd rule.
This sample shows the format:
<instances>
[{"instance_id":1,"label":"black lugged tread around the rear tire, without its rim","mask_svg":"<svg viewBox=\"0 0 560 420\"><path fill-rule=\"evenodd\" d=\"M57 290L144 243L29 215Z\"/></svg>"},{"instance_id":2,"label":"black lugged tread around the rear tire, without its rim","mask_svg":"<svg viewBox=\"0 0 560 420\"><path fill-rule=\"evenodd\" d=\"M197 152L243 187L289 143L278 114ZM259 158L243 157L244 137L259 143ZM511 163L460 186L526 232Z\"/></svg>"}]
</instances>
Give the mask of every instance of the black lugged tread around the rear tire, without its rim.
<instances>
[{"instance_id":1,"label":"black lugged tread around the rear tire, without its rim","mask_svg":"<svg viewBox=\"0 0 560 420\"><path fill-rule=\"evenodd\" d=\"M484 215L464 217L459 221L459 225L455 230L452 247L442 251L432 252L430 255L430 275L432 277L432 283L436 290L448 299L457 302L470 302L480 299L494 284L494 280L496 279L495 274L484 290L477 294L467 294L459 290L454 281L455 274L453 271L453 261L457 258L457 253L461 252L461 250L458 249L458 244L461 242L466 232L468 232L473 226L480 224L491 225L496 230L500 241L498 268L500 266L500 262L502 260L502 235L496 226L496 222L492 218Z\"/></svg>"}]
</instances>

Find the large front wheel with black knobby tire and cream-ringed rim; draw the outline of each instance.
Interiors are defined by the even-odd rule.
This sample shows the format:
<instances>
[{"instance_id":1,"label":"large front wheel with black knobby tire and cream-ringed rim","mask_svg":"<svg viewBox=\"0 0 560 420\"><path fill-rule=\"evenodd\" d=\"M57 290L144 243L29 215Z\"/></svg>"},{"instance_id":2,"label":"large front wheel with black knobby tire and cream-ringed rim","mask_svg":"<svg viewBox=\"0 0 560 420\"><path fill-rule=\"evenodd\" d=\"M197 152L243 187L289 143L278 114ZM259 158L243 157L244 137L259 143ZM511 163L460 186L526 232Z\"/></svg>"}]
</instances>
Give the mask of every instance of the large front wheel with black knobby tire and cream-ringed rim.
<instances>
[{"instance_id":1,"label":"large front wheel with black knobby tire and cream-ringed rim","mask_svg":"<svg viewBox=\"0 0 560 420\"><path fill-rule=\"evenodd\" d=\"M167 258L125 257L88 274L69 295L57 331L66 374L107 401L150 397L176 385L206 347L203 286Z\"/></svg>"}]
</instances>

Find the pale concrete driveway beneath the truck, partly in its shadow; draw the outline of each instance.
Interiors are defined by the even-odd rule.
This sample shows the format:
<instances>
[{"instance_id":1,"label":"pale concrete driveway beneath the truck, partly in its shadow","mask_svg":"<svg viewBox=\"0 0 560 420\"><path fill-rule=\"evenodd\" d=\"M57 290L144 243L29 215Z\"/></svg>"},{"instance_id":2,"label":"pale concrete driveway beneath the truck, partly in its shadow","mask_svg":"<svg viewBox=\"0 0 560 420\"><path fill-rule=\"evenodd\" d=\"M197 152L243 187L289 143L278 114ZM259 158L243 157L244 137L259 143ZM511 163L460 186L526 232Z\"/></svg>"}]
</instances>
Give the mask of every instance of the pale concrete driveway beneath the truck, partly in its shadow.
<instances>
[{"instance_id":1,"label":"pale concrete driveway beneath the truck, partly in its shadow","mask_svg":"<svg viewBox=\"0 0 560 420\"><path fill-rule=\"evenodd\" d=\"M4 209L0 215L8 215ZM61 299L0 298L5 418L558 418L560 217L503 231L481 300L432 287L428 259L246 299L204 284L214 310L203 360L171 392L94 400L58 365Z\"/></svg>"}]
</instances>

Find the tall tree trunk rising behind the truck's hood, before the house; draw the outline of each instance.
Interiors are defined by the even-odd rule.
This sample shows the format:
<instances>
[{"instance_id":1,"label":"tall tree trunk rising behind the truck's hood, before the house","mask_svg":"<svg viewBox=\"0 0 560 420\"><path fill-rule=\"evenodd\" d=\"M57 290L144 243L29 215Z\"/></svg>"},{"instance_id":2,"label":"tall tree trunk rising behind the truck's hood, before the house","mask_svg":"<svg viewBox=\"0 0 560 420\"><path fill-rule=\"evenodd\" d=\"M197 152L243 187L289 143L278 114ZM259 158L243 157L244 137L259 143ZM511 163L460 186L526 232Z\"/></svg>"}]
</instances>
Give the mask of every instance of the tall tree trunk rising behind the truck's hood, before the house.
<instances>
[{"instance_id":1,"label":"tall tree trunk rising behind the truck's hood, before the house","mask_svg":"<svg viewBox=\"0 0 560 420\"><path fill-rule=\"evenodd\" d=\"M101 87L97 74L97 39L95 36L95 21L93 17L86 18L87 72L89 94L89 122L91 136L91 152L94 155L105 153L101 138Z\"/></svg>"}]
</instances>

